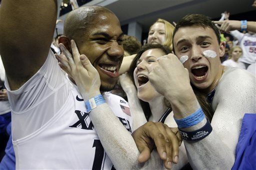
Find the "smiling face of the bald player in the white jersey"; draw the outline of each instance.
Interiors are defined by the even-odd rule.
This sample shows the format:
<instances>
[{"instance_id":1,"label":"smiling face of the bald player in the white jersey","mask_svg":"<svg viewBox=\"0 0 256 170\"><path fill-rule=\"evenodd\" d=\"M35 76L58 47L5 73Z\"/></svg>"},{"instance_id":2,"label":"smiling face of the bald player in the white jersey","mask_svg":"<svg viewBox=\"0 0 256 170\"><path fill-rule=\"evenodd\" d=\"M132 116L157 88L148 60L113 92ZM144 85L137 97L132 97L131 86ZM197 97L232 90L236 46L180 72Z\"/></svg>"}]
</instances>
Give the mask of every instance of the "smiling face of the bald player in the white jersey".
<instances>
[{"instance_id":1,"label":"smiling face of the bald player in the white jersey","mask_svg":"<svg viewBox=\"0 0 256 170\"><path fill-rule=\"evenodd\" d=\"M100 90L112 90L123 58L123 33L119 20L111 13L100 14L83 36L77 43L80 54L85 54L98 71Z\"/></svg>"}]
</instances>

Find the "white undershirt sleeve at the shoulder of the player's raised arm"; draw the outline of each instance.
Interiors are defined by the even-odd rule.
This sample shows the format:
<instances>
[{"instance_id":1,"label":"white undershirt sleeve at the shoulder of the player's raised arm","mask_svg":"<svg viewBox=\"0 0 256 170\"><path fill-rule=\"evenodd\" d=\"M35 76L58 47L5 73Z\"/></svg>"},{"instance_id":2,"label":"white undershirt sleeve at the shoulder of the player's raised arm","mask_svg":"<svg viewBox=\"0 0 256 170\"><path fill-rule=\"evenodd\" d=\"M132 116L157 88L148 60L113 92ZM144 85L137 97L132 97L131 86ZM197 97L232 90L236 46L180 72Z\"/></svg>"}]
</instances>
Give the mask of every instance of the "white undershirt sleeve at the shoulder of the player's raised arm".
<instances>
[{"instance_id":1,"label":"white undershirt sleeve at the shoulder of the player's raised arm","mask_svg":"<svg viewBox=\"0 0 256 170\"><path fill-rule=\"evenodd\" d=\"M42 127L56 114L68 95L68 83L51 50L43 66L18 90L10 91L12 138L23 138Z\"/></svg>"}]
</instances>

